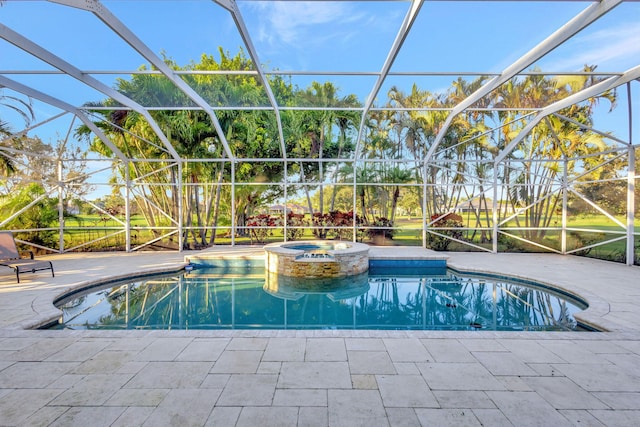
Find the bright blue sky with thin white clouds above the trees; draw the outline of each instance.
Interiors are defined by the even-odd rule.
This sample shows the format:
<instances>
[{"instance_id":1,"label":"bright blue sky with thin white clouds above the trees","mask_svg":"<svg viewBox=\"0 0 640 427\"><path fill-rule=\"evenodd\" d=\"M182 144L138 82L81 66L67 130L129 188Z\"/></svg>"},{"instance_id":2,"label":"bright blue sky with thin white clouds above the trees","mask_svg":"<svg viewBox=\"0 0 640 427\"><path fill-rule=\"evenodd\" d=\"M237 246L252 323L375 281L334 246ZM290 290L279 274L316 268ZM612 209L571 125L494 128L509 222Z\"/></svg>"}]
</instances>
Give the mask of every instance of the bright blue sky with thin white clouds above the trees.
<instances>
[{"instance_id":1,"label":"bright blue sky with thin white clouds above the trees","mask_svg":"<svg viewBox=\"0 0 640 427\"><path fill-rule=\"evenodd\" d=\"M197 62L203 53L217 57L220 46L231 55L241 48L247 51L229 12L210 0L105 0L103 4L155 54L179 65ZM590 4L426 1L391 71L456 72L468 80L481 73L499 73ZM237 1L264 70L309 73L292 76L292 82L306 87L313 80L331 80L340 88L340 95L355 93L362 101L376 77L336 72L380 72L410 5L407 1ZM42 1L8 0L0 7L0 24L110 87L115 78L127 78L128 72L148 66L138 52L87 11ZM638 58L640 2L627 2L532 67L567 72L590 64L601 72L620 72L639 65ZM53 68L0 39L1 75L73 105L106 98L71 77L12 70ZM108 73L97 72L100 70ZM394 85L408 92L414 82L421 89L438 92L456 78L389 76L380 93L384 96ZM634 85L637 93L640 88ZM38 122L60 113L39 102L35 108ZM634 110L640 111L637 95ZM605 113L602 117L608 122L602 124L603 130L628 133L624 115ZM3 119L11 117L6 110L0 114ZM39 127L38 132L55 135L52 138L65 135L73 126L71 119L66 115Z\"/></svg>"}]
</instances>

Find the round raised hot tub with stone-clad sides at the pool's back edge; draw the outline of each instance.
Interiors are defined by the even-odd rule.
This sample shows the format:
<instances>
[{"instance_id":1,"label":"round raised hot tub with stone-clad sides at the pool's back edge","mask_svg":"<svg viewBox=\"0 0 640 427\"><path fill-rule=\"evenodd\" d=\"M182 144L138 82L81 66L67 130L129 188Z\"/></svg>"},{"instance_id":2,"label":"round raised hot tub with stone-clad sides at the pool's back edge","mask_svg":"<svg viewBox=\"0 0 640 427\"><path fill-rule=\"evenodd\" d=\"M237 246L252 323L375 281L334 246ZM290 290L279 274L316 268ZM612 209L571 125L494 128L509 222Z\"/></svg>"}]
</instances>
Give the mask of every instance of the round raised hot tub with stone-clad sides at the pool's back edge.
<instances>
[{"instance_id":1,"label":"round raised hot tub with stone-clad sides at the pool's back edge","mask_svg":"<svg viewBox=\"0 0 640 427\"><path fill-rule=\"evenodd\" d=\"M364 243L311 240L271 243L264 250L267 272L288 277L346 277L369 270Z\"/></svg>"}]
</instances>

